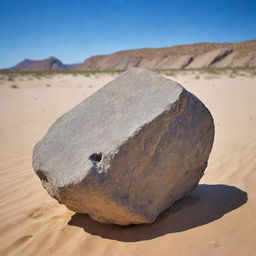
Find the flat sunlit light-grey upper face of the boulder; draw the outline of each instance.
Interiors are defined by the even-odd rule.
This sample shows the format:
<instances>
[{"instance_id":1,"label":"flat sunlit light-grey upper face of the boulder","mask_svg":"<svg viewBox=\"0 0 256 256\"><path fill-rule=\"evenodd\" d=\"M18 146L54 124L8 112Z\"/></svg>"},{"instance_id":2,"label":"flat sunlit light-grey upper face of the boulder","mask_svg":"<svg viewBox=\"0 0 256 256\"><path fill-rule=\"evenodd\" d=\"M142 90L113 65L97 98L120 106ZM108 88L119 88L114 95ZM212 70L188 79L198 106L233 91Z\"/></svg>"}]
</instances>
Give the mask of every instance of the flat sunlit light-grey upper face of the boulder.
<instances>
[{"instance_id":1,"label":"flat sunlit light-grey upper face of the boulder","mask_svg":"<svg viewBox=\"0 0 256 256\"><path fill-rule=\"evenodd\" d=\"M34 168L51 172L59 186L81 180L92 167L91 154L118 150L170 108L182 91L178 83L157 73L126 71L57 119L34 149Z\"/></svg>"}]
</instances>

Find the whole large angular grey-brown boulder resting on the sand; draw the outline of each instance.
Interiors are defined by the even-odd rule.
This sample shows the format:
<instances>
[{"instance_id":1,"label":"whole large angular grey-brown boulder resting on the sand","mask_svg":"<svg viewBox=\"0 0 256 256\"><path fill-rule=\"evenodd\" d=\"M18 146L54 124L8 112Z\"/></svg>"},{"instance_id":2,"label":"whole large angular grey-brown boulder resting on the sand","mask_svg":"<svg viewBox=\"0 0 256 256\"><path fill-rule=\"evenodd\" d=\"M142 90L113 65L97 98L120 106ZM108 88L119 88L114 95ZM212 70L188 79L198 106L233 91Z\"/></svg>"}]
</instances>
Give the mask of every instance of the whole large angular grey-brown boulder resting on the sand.
<instances>
[{"instance_id":1,"label":"whole large angular grey-brown boulder resting on the sand","mask_svg":"<svg viewBox=\"0 0 256 256\"><path fill-rule=\"evenodd\" d=\"M57 119L34 147L33 167L73 211L103 223L151 223L196 187L213 138L199 99L133 68Z\"/></svg>"}]
</instances>

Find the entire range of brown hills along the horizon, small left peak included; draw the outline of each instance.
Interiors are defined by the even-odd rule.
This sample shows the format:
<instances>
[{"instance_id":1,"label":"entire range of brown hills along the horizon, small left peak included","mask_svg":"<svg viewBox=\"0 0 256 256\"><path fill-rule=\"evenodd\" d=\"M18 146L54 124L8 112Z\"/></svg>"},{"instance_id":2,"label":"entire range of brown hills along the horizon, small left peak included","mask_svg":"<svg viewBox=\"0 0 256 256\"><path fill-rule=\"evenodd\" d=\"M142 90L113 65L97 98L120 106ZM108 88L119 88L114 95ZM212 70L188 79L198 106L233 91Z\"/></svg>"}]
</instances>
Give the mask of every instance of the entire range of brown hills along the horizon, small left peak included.
<instances>
[{"instance_id":1,"label":"entire range of brown hills along the horizon, small left peak included","mask_svg":"<svg viewBox=\"0 0 256 256\"><path fill-rule=\"evenodd\" d=\"M72 65L65 65L54 57L24 60L9 70L124 70L131 67L151 70L256 67L256 40L127 50L92 56Z\"/></svg>"}]
</instances>

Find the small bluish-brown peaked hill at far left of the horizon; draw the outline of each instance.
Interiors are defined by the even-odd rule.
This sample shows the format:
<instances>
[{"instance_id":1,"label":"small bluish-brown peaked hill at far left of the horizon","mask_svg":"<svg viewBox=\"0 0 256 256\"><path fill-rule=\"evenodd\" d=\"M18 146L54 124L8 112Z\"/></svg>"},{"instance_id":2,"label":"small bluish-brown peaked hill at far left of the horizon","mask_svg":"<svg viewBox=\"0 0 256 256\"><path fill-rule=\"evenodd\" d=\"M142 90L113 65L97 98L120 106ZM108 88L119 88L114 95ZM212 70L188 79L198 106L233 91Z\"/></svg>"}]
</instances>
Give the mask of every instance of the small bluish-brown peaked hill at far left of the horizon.
<instances>
[{"instance_id":1,"label":"small bluish-brown peaked hill at far left of the horizon","mask_svg":"<svg viewBox=\"0 0 256 256\"><path fill-rule=\"evenodd\" d=\"M65 70L68 69L60 60L50 57L44 60L23 60L9 70Z\"/></svg>"}]
</instances>

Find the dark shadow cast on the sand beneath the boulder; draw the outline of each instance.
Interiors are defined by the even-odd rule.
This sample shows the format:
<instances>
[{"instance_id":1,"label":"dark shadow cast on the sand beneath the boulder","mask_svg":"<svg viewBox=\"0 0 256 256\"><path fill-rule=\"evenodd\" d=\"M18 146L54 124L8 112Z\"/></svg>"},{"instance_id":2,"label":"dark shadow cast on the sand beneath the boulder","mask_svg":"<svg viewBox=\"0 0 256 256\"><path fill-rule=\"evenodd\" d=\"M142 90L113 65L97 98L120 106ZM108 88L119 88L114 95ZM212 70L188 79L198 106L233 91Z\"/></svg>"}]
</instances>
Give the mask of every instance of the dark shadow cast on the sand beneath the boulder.
<instances>
[{"instance_id":1,"label":"dark shadow cast on the sand beneath the boulder","mask_svg":"<svg viewBox=\"0 0 256 256\"><path fill-rule=\"evenodd\" d=\"M150 240L205 225L221 218L247 202L247 193L228 185L198 185L193 193L159 215L153 224L117 226L92 220L76 213L68 225L102 238L123 242Z\"/></svg>"}]
</instances>

